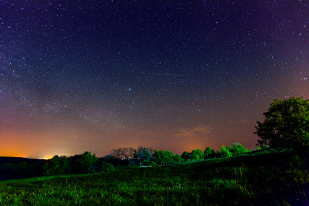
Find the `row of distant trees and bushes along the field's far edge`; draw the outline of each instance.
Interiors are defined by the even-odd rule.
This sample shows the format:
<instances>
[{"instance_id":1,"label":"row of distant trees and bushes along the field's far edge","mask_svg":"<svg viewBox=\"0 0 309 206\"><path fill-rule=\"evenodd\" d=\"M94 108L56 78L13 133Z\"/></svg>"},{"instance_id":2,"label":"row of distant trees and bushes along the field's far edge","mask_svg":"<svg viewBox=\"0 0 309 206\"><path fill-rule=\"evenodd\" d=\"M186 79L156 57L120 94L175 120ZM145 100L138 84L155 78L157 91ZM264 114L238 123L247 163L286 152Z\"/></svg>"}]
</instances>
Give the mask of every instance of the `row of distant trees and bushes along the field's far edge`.
<instances>
[{"instance_id":1,"label":"row of distant trees and bushes along the field's far edge","mask_svg":"<svg viewBox=\"0 0 309 206\"><path fill-rule=\"evenodd\" d=\"M91 152L84 152L71 157L55 155L43 165L45 175L57 174L91 174L97 172L111 172L119 166L130 165L163 165L192 160L209 159L214 157L230 157L250 150L241 144L234 143L215 152L207 147L204 151L197 149L192 152L183 152L182 155L174 155L171 151L152 150L152 148L133 146L111 150L110 155L98 158Z\"/></svg>"}]
</instances>

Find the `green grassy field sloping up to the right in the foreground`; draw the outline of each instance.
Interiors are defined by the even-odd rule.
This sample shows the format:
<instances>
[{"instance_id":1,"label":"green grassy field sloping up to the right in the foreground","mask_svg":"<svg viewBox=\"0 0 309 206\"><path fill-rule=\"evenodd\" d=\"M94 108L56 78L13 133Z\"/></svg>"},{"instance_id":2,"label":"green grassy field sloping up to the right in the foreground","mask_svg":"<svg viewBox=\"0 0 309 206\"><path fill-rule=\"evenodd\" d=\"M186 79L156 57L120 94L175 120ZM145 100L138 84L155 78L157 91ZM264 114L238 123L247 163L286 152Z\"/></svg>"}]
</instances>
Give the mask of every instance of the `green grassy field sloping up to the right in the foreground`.
<instances>
[{"instance_id":1,"label":"green grassy field sloping up to the right in the foreground","mask_svg":"<svg viewBox=\"0 0 309 206\"><path fill-rule=\"evenodd\" d=\"M308 152L0 182L0 205L306 205Z\"/></svg>"}]
</instances>

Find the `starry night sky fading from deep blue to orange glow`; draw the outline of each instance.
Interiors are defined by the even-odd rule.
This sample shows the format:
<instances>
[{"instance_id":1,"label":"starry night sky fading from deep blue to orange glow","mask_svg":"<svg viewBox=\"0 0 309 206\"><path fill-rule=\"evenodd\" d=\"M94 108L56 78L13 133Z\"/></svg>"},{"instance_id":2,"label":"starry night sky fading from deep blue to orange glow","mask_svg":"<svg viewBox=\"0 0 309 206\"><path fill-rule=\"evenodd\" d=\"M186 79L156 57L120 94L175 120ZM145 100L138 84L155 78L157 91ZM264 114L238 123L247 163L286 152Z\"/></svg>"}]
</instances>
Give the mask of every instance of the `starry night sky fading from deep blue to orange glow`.
<instances>
[{"instance_id":1,"label":"starry night sky fading from deep blue to orange glow","mask_svg":"<svg viewBox=\"0 0 309 206\"><path fill-rule=\"evenodd\" d=\"M255 149L309 98L309 1L1 1L0 156Z\"/></svg>"}]
</instances>

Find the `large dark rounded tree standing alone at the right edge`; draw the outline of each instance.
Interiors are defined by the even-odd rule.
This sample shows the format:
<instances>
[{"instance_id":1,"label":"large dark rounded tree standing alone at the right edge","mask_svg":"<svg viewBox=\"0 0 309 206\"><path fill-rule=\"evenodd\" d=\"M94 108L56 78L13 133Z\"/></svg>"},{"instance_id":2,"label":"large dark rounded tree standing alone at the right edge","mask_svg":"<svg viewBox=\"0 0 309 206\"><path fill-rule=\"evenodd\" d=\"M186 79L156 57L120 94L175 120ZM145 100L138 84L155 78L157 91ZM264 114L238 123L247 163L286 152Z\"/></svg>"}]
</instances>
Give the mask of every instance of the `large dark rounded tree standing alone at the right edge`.
<instances>
[{"instance_id":1,"label":"large dark rounded tree standing alone at the right edge","mask_svg":"<svg viewBox=\"0 0 309 206\"><path fill-rule=\"evenodd\" d=\"M264 122L257 122L258 146L291 149L309 143L309 100L303 98L275 99Z\"/></svg>"}]
</instances>

